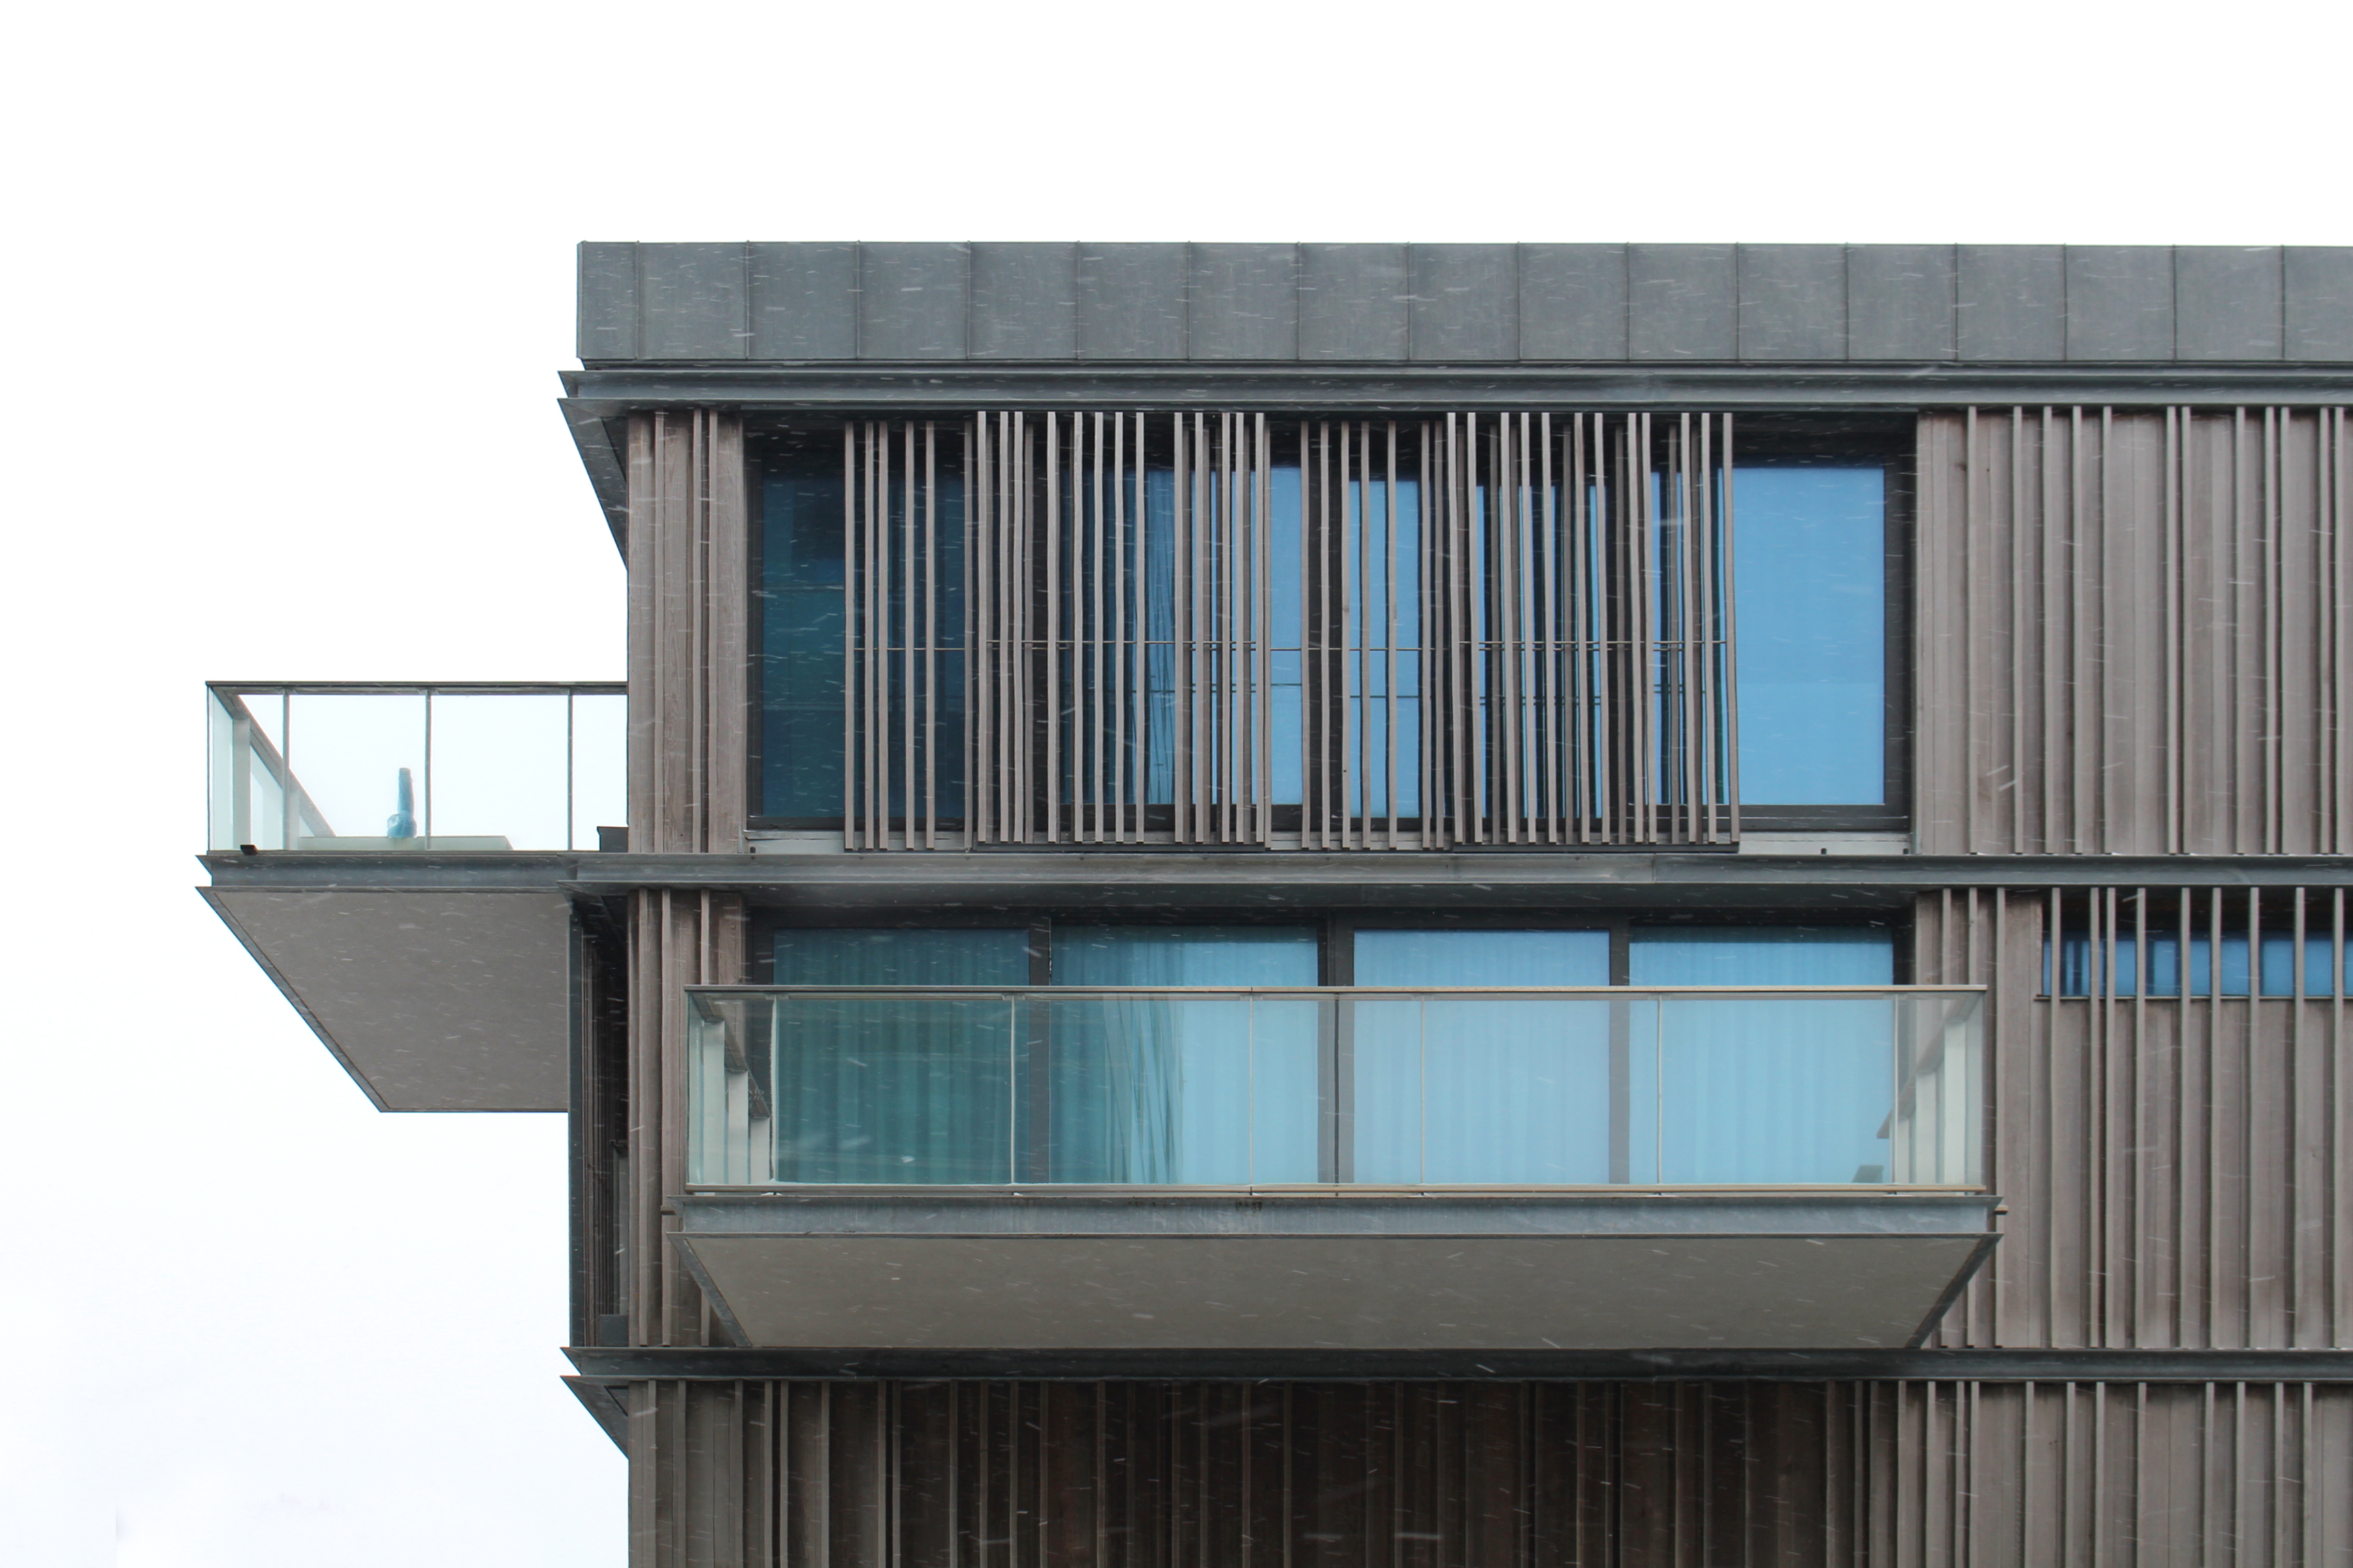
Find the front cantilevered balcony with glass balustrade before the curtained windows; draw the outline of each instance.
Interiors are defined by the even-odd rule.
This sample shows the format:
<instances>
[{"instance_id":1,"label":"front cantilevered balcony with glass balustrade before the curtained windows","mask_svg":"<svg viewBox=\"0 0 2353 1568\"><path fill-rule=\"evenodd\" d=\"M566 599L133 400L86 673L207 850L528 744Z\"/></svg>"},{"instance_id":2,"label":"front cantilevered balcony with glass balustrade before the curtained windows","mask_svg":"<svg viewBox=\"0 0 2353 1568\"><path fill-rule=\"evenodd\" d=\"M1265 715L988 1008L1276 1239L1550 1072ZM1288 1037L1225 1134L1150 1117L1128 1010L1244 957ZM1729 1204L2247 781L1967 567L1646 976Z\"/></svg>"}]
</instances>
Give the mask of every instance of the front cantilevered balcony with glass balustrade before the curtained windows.
<instances>
[{"instance_id":1,"label":"front cantilevered balcony with glass balustrade before the curtained windows","mask_svg":"<svg viewBox=\"0 0 2353 1568\"><path fill-rule=\"evenodd\" d=\"M1988 1244L1972 987L687 1004L746 1345L1906 1345Z\"/></svg>"}]
</instances>

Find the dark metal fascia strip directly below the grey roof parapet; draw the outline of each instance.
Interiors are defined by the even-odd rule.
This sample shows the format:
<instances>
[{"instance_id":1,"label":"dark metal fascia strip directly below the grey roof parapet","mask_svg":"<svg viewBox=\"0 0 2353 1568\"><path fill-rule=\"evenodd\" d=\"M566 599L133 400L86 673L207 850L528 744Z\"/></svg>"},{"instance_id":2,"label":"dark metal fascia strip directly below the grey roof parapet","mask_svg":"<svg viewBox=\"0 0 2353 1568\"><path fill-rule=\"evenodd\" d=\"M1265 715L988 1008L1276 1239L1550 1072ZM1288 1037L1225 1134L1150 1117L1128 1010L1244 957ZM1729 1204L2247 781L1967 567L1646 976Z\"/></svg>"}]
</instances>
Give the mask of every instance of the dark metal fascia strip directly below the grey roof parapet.
<instances>
[{"instance_id":1,"label":"dark metal fascia strip directly below the grey roof parapet","mask_svg":"<svg viewBox=\"0 0 2353 1568\"><path fill-rule=\"evenodd\" d=\"M2353 364L600 364L562 371L567 418L631 409L1840 409L2002 402L2332 404Z\"/></svg>"}]
</instances>

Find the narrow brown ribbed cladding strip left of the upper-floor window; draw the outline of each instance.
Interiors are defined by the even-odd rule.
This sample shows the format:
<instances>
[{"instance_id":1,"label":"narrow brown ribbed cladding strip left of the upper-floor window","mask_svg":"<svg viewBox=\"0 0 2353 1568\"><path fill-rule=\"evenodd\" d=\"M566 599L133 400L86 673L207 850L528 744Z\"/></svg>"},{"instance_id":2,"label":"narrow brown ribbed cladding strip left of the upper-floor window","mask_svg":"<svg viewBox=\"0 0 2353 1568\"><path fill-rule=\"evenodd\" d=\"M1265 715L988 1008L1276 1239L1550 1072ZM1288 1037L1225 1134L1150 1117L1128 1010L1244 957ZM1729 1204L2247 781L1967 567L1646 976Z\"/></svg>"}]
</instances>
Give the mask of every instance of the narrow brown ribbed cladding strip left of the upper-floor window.
<instances>
[{"instance_id":1,"label":"narrow brown ribbed cladding strip left of the upper-floor window","mask_svg":"<svg viewBox=\"0 0 2353 1568\"><path fill-rule=\"evenodd\" d=\"M744 418L628 421L628 846L741 853L748 809Z\"/></svg>"}]
</instances>

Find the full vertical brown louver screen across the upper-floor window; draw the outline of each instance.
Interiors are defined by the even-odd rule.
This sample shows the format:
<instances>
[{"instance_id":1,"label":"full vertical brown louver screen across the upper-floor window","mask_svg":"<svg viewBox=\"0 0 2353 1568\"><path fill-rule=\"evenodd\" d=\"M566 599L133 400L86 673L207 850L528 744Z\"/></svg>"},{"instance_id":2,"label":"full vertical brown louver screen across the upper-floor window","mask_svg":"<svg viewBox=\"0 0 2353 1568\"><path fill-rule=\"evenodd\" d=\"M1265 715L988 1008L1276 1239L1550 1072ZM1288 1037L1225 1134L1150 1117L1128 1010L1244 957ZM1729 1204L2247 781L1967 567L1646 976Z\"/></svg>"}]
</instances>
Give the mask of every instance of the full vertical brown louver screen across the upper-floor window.
<instances>
[{"instance_id":1,"label":"full vertical brown louver screen across the upper-floor window","mask_svg":"<svg viewBox=\"0 0 2353 1568\"><path fill-rule=\"evenodd\" d=\"M1739 832L1729 416L951 440L847 433L852 849Z\"/></svg>"}]
</instances>

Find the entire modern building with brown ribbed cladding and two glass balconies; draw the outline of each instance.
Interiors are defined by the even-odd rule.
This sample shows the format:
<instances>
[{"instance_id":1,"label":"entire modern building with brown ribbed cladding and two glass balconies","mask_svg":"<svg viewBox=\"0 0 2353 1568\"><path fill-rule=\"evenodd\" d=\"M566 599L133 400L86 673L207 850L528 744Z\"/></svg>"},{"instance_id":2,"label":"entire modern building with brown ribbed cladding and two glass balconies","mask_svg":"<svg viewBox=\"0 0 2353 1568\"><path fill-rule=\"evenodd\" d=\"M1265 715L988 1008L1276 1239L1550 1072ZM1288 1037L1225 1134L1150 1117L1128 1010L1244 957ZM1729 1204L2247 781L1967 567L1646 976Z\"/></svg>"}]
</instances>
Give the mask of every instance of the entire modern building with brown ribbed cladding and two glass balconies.
<instances>
[{"instance_id":1,"label":"entire modern building with brown ribbed cladding and two glass balconies","mask_svg":"<svg viewBox=\"0 0 2353 1568\"><path fill-rule=\"evenodd\" d=\"M579 266L628 682L205 893L633 1563L2353 1563L2353 249Z\"/></svg>"}]
</instances>

